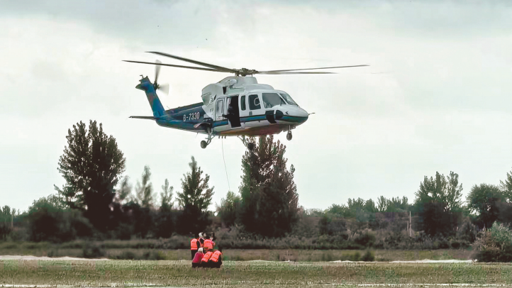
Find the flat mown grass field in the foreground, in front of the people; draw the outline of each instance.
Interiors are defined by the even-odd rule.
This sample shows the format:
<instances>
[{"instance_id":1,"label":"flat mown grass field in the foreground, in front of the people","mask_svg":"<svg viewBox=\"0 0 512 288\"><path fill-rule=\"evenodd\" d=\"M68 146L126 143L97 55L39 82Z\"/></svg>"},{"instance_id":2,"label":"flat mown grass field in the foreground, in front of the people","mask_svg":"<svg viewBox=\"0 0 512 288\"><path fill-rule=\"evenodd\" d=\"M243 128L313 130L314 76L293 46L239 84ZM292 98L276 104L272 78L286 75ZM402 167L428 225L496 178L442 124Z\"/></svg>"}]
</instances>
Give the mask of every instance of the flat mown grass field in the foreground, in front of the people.
<instances>
[{"instance_id":1,"label":"flat mown grass field in the foreground, in front of the people","mask_svg":"<svg viewBox=\"0 0 512 288\"><path fill-rule=\"evenodd\" d=\"M185 260L0 261L0 285L346 287L406 284L404 287L422 287L425 283L511 284L512 265L226 261L220 270L215 270L192 269Z\"/></svg>"}]
</instances>

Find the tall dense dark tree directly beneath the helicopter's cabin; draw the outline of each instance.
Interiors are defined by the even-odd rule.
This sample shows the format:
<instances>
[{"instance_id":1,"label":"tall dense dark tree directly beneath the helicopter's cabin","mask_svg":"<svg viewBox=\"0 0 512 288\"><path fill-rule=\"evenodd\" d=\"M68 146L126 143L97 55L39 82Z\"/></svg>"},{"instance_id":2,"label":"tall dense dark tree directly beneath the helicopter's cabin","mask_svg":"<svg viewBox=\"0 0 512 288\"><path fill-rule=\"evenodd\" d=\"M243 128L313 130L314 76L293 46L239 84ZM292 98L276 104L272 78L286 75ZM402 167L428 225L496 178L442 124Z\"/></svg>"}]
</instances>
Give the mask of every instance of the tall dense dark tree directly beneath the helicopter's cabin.
<instances>
[{"instance_id":1,"label":"tall dense dark tree directly beneath the helicopter's cabin","mask_svg":"<svg viewBox=\"0 0 512 288\"><path fill-rule=\"evenodd\" d=\"M286 168L286 147L272 135L248 140L254 149L242 159L241 221L247 231L262 236L283 236L298 220L299 196L295 168Z\"/></svg>"}]
</instances>

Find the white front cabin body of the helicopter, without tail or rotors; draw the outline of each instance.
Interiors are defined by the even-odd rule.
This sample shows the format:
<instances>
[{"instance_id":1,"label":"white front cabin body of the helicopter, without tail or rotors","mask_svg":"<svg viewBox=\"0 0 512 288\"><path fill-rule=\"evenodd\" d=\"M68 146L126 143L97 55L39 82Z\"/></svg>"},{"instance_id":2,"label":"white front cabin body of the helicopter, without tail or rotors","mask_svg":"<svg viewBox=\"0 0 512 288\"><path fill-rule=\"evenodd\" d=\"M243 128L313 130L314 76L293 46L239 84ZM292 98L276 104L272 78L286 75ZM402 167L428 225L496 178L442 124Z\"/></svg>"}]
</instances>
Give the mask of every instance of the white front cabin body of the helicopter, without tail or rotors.
<instances>
[{"instance_id":1,"label":"white front cabin body of the helicopter, without tail or rotors","mask_svg":"<svg viewBox=\"0 0 512 288\"><path fill-rule=\"evenodd\" d=\"M226 77L204 87L201 97L214 135L276 134L308 119L286 92L258 84L255 77Z\"/></svg>"}]
</instances>

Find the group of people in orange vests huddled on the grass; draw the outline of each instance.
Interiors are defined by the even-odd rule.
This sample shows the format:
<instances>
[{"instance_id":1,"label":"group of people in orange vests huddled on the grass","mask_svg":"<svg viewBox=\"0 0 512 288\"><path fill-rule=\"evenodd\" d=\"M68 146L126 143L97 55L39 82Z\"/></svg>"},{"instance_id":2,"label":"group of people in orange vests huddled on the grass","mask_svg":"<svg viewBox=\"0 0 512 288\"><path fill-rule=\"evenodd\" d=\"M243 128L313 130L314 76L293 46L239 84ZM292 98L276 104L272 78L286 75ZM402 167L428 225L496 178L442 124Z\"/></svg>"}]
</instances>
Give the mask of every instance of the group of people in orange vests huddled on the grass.
<instances>
[{"instance_id":1,"label":"group of people in orange vests huddled on the grass","mask_svg":"<svg viewBox=\"0 0 512 288\"><path fill-rule=\"evenodd\" d=\"M220 268L222 265L222 248L213 251L215 242L210 236L199 233L199 238L190 240L192 267Z\"/></svg>"}]
</instances>

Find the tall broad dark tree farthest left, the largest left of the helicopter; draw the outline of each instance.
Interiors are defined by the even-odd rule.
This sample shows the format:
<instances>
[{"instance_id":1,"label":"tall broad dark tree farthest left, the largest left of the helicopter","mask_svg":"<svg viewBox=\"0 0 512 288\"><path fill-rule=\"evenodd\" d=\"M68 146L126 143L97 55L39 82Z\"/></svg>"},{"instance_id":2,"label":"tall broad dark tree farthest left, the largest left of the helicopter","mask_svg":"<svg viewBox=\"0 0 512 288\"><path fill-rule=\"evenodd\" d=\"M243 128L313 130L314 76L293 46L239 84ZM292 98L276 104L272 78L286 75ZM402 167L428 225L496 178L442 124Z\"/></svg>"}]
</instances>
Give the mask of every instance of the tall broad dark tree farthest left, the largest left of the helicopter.
<instances>
[{"instance_id":1,"label":"tall broad dark tree farthest left, the largest left of the helicopter","mask_svg":"<svg viewBox=\"0 0 512 288\"><path fill-rule=\"evenodd\" d=\"M114 187L125 170L126 159L116 139L107 136L96 121L89 121L89 130L80 121L67 131L66 138L57 168L66 183L55 189L69 207L86 211L94 226L106 229Z\"/></svg>"}]
</instances>

